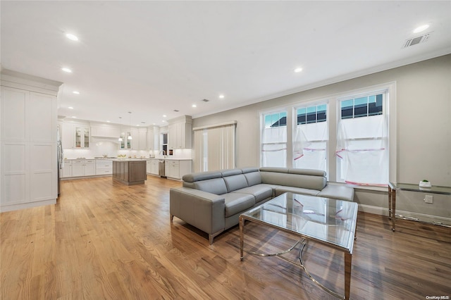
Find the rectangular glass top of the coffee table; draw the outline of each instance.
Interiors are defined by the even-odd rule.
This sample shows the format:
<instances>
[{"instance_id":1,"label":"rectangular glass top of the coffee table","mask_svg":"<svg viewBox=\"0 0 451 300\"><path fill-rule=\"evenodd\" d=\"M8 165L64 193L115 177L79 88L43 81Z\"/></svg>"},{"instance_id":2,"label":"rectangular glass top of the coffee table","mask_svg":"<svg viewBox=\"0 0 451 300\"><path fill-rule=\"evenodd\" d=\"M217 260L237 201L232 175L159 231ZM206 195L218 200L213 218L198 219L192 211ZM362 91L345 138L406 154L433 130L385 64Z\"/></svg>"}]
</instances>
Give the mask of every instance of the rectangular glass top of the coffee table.
<instances>
[{"instance_id":1,"label":"rectangular glass top of the coffee table","mask_svg":"<svg viewBox=\"0 0 451 300\"><path fill-rule=\"evenodd\" d=\"M285 193L242 216L352 253L357 207L351 201Z\"/></svg>"}]
</instances>

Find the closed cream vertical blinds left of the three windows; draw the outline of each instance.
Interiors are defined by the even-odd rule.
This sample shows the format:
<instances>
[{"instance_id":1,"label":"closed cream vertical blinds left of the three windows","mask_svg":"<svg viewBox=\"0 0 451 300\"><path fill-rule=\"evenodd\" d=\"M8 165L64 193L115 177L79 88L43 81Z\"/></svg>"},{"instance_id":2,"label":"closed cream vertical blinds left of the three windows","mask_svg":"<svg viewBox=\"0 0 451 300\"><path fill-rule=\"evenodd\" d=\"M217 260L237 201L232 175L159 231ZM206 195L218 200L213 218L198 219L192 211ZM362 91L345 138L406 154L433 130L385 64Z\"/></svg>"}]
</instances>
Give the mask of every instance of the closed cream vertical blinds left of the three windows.
<instances>
[{"instance_id":1,"label":"closed cream vertical blinds left of the three windows","mask_svg":"<svg viewBox=\"0 0 451 300\"><path fill-rule=\"evenodd\" d=\"M194 128L194 172L235 168L235 124Z\"/></svg>"}]
</instances>

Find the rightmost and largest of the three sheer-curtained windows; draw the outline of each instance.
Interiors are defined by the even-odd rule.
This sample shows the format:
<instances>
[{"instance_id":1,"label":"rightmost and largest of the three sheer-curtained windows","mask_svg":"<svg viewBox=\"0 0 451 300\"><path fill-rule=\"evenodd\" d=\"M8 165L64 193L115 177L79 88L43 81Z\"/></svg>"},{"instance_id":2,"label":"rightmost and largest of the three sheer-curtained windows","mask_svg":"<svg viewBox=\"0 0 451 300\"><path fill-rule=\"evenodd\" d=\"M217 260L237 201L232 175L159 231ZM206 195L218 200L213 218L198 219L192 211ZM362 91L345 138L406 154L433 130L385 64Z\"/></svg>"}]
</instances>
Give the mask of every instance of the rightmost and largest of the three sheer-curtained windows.
<instances>
[{"instance_id":1,"label":"rightmost and largest of the three sheer-curtained windows","mask_svg":"<svg viewBox=\"0 0 451 300\"><path fill-rule=\"evenodd\" d=\"M338 99L337 181L358 185L388 183L386 93Z\"/></svg>"}]
</instances>

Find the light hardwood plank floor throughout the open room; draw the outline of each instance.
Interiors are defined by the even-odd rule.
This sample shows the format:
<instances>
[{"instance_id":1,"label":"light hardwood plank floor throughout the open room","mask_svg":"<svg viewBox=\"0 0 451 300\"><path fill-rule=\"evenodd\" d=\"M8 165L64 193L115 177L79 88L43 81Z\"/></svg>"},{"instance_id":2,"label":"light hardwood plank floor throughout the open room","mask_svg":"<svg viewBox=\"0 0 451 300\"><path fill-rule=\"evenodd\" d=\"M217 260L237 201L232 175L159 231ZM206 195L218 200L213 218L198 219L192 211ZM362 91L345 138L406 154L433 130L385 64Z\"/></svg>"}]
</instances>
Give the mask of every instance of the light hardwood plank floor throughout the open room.
<instances>
[{"instance_id":1,"label":"light hardwood plank floor throughout the open room","mask_svg":"<svg viewBox=\"0 0 451 300\"><path fill-rule=\"evenodd\" d=\"M169 218L169 188L149 176L62 182L56 205L1 213L1 299L335 299L296 265L245 256L238 227L209 245L204 232ZM247 223L245 247L292 237ZM260 245L260 246L258 246ZM309 243L307 268L341 294L341 252ZM359 213L351 299L451 297L451 230Z\"/></svg>"}]
</instances>

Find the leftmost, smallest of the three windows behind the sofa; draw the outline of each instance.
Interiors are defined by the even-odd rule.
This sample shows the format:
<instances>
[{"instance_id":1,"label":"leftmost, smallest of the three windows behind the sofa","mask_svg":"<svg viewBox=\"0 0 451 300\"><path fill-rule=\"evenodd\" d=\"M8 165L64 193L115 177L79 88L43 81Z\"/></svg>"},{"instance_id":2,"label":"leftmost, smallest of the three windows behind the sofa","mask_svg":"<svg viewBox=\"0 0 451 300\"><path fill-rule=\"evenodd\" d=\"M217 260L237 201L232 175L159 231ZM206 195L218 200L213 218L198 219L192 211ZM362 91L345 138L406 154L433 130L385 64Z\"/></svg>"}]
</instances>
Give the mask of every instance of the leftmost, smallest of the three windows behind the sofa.
<instances>
[{"instance_id":1,"label":"leftmost, smallest of the three windows behind the sofa","mask_svg":"<svg viewBox=\"0 0 451 300\"><path fill-rule=\"evenodd\" d=\"M287 163L287 112L262 115L261 165L285 167Z\"/></svg>"}]
</instances>

